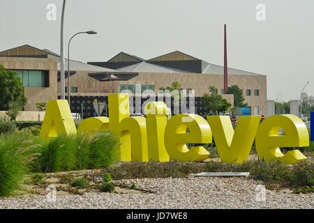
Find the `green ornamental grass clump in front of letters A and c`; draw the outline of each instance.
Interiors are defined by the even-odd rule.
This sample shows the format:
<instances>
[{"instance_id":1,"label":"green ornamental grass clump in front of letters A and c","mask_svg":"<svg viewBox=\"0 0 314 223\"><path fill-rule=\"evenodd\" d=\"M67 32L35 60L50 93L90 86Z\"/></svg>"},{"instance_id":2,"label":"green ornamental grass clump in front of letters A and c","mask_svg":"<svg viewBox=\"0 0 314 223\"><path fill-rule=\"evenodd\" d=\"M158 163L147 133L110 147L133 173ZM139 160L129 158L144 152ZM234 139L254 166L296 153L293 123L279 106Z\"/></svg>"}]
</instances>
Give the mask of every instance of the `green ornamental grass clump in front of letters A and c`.
<instances>
[{"instance_id":1,"label":"green ornamental grass clump in front of letters A and c","mask_svg":"<svg viewBox=\"0 0 314 223\"><path fill-rule=\"evenodd\" d=\"M118 160L119 140L110 132L59 136L43 143L38 158L44 172L109 167Z\"/></svg>"}]
</instances>

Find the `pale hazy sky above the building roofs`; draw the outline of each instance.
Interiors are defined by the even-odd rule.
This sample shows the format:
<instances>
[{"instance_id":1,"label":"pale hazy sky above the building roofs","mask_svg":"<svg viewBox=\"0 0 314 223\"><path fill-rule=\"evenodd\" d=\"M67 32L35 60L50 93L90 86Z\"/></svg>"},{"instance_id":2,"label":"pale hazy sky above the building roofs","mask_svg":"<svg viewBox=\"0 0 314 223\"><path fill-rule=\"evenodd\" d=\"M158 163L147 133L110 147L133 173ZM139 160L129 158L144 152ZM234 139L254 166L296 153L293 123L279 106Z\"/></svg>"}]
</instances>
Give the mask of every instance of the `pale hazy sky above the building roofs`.
<instances>
[{"instance_id":1,"label":"pale hazy sky above the building roofs","mask_svg":"<svg viewBox=\"0 0 314 223\"><path fill-rule=\"evenodd\" d=\"M46 19L48 3L57 20ZM29 44L59 53L61 0L0 0L0 51ZM257 21L257 3L266 21ZM269 99L314 95L314 1L287 0L67 0L65 40L77 31L72 59L107 61L124 51L150 59L180 50L223 64L227 23L228 65L267 75Z\"/></svg>"}]
</instances>

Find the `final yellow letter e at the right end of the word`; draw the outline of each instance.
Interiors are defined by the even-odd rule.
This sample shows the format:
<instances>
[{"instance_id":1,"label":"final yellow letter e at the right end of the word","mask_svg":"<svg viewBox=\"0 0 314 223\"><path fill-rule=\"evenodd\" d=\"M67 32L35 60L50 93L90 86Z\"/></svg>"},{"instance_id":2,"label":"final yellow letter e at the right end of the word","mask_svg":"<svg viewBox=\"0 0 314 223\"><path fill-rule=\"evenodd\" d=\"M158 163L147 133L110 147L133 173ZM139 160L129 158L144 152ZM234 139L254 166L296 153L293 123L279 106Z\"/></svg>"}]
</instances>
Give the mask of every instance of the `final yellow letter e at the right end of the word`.
<instances>
[{"instance_id":1,"label":"final yellow letter e at the right end of the word","mask_svg":"<svg viewBox=\"0 0 314 223\"><path fill-rule=\"evenodd\" d=\"M280 134L281 129L284 132ZM282 133L283 133L282 132ZM294 164L306 157L298 150L283 154L281 147L308 146L308 129L303 121L292 114L282 114L266 118L257 130L255 146L261 160L282 160Z\"/></svg>"}]
</instances>

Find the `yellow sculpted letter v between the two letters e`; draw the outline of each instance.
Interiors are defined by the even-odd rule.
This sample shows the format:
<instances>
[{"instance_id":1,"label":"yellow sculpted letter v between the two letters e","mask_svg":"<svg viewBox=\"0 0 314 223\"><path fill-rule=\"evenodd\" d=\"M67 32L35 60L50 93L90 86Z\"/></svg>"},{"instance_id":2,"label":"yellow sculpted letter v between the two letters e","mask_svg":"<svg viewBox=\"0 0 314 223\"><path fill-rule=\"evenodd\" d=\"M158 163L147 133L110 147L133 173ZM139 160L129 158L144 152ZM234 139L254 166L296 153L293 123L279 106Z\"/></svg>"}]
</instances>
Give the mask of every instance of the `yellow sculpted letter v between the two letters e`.
<instances>
[{"instance_id":1,"label":"yellow sculpted letter v between the two letters e","mask_svg":"<svg viewBox=\"0 0 314 223\"><path fill-rule=\"evenodd\" d=\"M222 162L242 163L248 160L260 116L240 116L235 131L229 116L207 116L207 120Z\"/></svg>"}]
</instances>

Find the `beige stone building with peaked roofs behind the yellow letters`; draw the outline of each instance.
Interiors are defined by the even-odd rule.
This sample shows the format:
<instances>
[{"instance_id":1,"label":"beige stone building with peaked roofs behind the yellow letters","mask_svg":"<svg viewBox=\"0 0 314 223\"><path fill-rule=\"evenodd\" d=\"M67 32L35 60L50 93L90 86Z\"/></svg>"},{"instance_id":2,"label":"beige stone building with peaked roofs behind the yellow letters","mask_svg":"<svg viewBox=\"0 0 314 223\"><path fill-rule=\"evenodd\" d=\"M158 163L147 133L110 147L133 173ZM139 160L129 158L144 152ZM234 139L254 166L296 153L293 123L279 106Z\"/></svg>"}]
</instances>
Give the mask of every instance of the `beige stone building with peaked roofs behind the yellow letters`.
<instances>
[{"instance_id":1,"label":"beige stone building with peaked roofs behind the yellow letters","mask_svg":"<svg viewBox=\"0 0 314 223\"><path fill-rule=\"evenodd\" d=\"M24 94L28 99L25 110L36 110L37 102L47 102L59 96L59 55L47 49L29 45L0 52L0 64L16 70L22 78ZM68 70L66 60L65 69ZM67 75L66 75L67 76ZM172 52L154 59L141 59L121 52L106 62L82 63L70 61L71 109L80 112L78 105L84 100L92 108L93 98L101 100L108 93L124 90L143 92L181 84L181 90L195 91L200 98L214 85L223 93L223 66L202 61L182 52ZM228 68L228 85L242 89L252 115L266 115L267 76ZM66 78L67 85L67 78ZM66 89L67 91L67 89ZM223 95L233 104L233 95ZM197 103L196 103L197 104ZM200 109L200 105L195 105ZM202 110L201 113L206 111ZM91 116L91 112L85 116Z\"/></svg>"}]
</instances>

